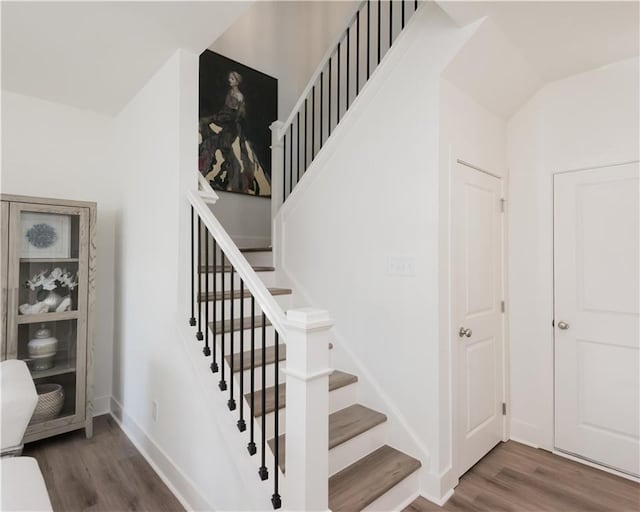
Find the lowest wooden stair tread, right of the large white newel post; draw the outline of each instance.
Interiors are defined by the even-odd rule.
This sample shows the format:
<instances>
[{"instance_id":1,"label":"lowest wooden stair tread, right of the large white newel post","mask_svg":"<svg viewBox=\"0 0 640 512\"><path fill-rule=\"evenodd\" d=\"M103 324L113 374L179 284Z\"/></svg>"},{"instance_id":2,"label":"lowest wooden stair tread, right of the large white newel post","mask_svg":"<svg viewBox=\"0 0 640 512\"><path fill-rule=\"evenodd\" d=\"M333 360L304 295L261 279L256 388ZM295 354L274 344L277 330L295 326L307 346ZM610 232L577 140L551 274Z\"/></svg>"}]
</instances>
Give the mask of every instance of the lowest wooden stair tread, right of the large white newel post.
<instances>
[{"instance_id":1,"label":"lowest wooden stair tread, right of the large white newel post","mask_svg":"<svg viewBox=\"0 0 640 512\"><path fill-rule=\"evenodd\" d=\"M362 510L419 469L419 460L382 446L329 478L332 512Z\"/></svg>"}]
</instances>

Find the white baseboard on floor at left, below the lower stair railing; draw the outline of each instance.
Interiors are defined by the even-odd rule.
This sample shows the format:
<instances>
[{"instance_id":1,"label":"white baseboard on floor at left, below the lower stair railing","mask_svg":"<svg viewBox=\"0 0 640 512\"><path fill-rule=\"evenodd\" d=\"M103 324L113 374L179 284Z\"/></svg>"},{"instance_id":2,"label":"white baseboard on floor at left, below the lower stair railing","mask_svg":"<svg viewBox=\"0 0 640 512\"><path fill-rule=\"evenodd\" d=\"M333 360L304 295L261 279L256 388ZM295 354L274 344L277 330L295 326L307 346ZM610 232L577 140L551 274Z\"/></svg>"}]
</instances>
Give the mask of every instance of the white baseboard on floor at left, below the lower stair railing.
<instances>
[{"instance_id":1,"label":"white baseboard on floor at left, below the lower stair railing","mask_svg":"<svg viewBox=\"0 0 640 512\"><path fill-rule=\"evenodd\" d=\"M111 416L186 510L215 510L200 494L193 481L113 397L111 397Z\"/></svg>"}]
</instances>

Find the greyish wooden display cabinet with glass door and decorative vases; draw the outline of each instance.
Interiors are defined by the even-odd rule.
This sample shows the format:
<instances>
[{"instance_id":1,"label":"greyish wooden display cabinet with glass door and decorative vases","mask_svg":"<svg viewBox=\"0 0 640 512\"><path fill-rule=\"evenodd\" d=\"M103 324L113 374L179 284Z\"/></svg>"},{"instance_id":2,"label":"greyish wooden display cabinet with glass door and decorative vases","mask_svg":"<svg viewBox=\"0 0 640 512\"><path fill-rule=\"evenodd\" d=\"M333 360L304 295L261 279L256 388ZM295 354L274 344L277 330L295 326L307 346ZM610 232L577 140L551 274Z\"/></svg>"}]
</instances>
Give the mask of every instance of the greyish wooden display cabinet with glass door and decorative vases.
<instances>
[{"instance_id":1,"label":"greyish wooden display cabinet with glass door and decorative vases","mask_svg":"<svg viewBox=\"0 0 640 512\"><path fill-rule=\"evenodd\" d=\"M32 422L24 441L81 428L91 437L96 204L7 194L1 199L0 355L26 360L36 386L59 384L64 390L60 413ZM26 284L54 269L67 276L66 285L34 290ZM58 344L50 367L36 369L28 343L41 329Z\"/></svg>"}]
</instances>

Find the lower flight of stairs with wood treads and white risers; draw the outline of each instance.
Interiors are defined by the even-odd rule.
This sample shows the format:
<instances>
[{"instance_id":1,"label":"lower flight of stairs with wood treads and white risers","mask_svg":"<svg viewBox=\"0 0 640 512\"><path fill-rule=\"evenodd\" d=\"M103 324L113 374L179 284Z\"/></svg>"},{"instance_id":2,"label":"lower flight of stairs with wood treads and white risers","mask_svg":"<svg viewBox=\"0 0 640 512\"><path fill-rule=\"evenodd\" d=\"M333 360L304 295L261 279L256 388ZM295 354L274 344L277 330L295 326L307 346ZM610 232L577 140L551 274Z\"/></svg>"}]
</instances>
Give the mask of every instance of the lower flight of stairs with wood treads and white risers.
<instances>
[{"instance_id":1,"label":"lower flight of stairs with wood treads and white risers","mask_svg":"<svg viewBox=\"0 0 640 512\"><path fill-rule=\"evenodd\" d=\"M291 302L292 291L275 286L275 269L268 264L271 249L240 249L240 252L249 263L254 262L251 264L253 271L261 277L272 296L278 297L279 303L286 307ZM269 478L269 473L276 472L273 466L277 464L279 477L285 478L287 433L282 432L282 424L287 392L280 370L286 368L286 343L277 340L273 325L266 316L246 316L246 308L251 310L252 307L252 295L231 265L201 262L199 268L201 289L197 294L196 309L200 310L201 325L204 325L204 317L211 318L214 311L216 318L222 315L223 310L225 316L226 312L233 311L231 318L208 322L208 332L202 337L198 331L197 338L202 338L200 341L207 338L203 353L216 362L211 364L211 368L222 376L220 392L229 393L229 409L240 414L239 430L251 430L250 453L258 455L258 437L264 432L265 448L268 447L269 453L264 454L258 474ZM223 282L224 289L221 288ZM253 307L255 313L255 303ZM196 325L197 316L194 310ZM259 343L256 344L256 340ZM244 350L247 342L251 346L252 341L253 350ZM256 348L258 345L260 348ZM329 343L328 349L332 348ZM421 464L386 444L387 417L357 402L357 384L356 375L337 369L328 377L329 508L334 512L391 510L389 507L394 503L396 506L408 503L417 494L416 482L408 488L399 484L415 475ZM279 426L275 426L276 413L280 417ZM279 429L277 435L276 428ZM240 440L238 450L242 450ZM268 471L262 471L271 461ZM275 501L274 508L279 508L281 501Z\"/></svg>"}]
</instances>

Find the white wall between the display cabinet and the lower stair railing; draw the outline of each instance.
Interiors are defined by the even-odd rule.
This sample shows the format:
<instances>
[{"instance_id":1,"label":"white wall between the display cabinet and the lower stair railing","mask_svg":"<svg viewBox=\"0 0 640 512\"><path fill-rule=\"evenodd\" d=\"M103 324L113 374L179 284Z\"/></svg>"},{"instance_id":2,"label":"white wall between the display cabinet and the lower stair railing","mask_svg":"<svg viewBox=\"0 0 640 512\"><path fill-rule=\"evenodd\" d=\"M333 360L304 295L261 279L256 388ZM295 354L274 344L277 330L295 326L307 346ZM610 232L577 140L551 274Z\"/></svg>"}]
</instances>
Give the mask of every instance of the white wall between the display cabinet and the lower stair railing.
<instances>
[{"instance_id":1,"label":"white wall between the display cabinet and the lower stair railing","mask_svg":"<svg viewBox=\"0 0 640 512\"><path fill-rule=\"evenodd\" d=\"M197 55L176 52L115 119L127 187L116 226L114 406L189 506L251 509L256 493L244 491L236 469L245 444L221 433L218 422L235 425L213 414L225 408L222 394L214 385L204 393L198 369L213 376L193 333L186 340L180 328L188 320L186 191L197 183L197 69ZM197 367L189 349L199 352Z\"/></svg>"}]
</instances>

